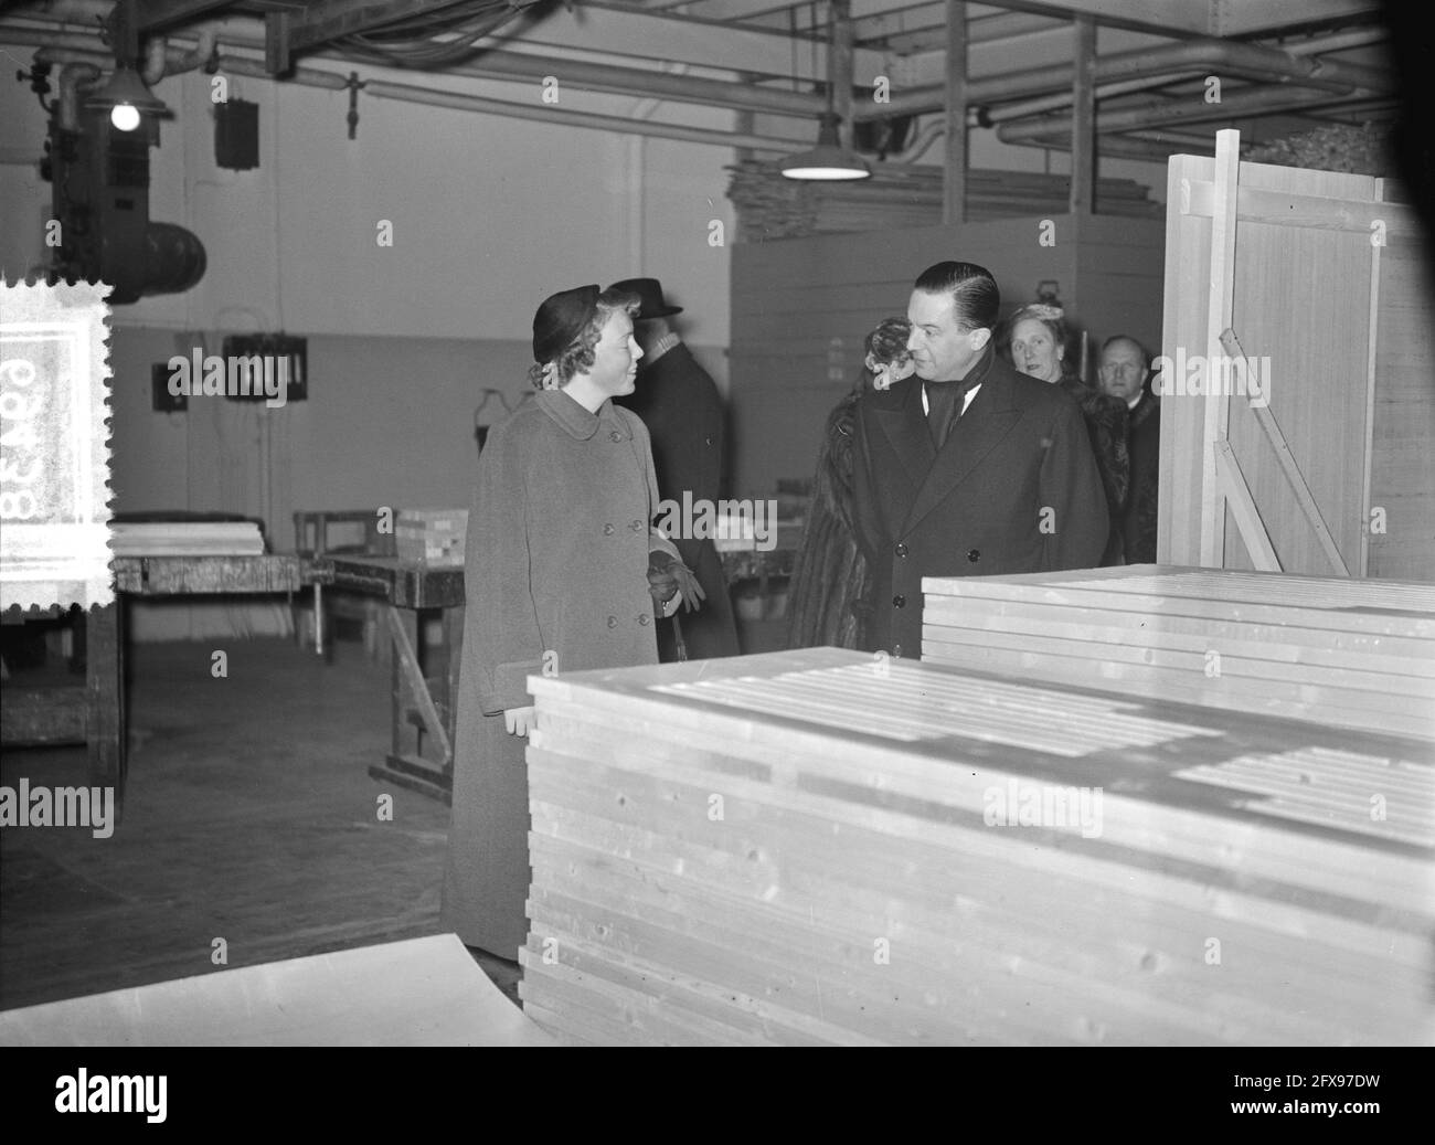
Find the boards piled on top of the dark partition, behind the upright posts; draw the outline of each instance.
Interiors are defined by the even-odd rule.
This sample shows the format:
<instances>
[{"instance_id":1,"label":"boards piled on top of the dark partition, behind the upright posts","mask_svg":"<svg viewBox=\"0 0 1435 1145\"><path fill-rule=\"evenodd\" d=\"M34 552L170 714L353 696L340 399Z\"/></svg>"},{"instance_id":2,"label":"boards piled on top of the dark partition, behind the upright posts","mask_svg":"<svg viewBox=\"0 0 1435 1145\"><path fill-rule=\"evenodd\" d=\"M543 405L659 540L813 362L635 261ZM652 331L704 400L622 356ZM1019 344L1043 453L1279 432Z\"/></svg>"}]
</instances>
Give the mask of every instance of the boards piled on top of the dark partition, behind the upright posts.
<instances>
[{"instance_id":1,"label":"boards piled on top of the dark partition, behind the upright posts","mask_svg":"<svg viewBox=\"0 0 1435 1145\"><path fill-rule=\"evenodd\" d=\"M872 176L855 182L788 179L776 165L746 161L728 168L728 198L738 209L739 240L845 231L936 227L941 222L940 166L872 164ZM1164 208L1149 188L1132 179L1098 179L1096 211L1159 218ZM1071 178L1035 171L970 171L967 220L1063 215L1071 209Z\"/></svg>"}]
</instances>

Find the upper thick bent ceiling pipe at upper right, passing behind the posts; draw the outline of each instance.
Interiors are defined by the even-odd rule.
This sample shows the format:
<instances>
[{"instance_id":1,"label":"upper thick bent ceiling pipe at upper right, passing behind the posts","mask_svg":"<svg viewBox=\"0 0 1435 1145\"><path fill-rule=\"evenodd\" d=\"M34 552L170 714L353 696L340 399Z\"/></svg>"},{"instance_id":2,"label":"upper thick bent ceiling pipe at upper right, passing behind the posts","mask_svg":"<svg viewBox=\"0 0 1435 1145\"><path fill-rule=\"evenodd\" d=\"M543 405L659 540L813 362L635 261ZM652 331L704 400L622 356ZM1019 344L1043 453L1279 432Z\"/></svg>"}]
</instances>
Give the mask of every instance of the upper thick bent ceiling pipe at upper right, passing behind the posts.
<instances>
[{"instance_id":1,"label":"upper thick bent ceiling pipe at upper right, passing behind the posts","mask_svg":"<svg viewBox=\"0 0 1435 1145\"><path fill-rule=\"evenodd\" d=\"M1393 89L1395 77L1389 72L1310 55L1319 50L1320 42L1312 42L1306 55L1292 55L1274 47L1258 47L1233 40L1191 40L1170 47L1138 49L1102 56L1096 60L1095 79L1099 83L1109 83L1191 72L1208 73L1208 69L1220 67L1224 69L1223 75L1225 76L1258 79L1267 83L1271 80L1303 80L1303 86L1342 93L1358 88L1375 92ZM1003 103L1029 96L1059 93L1065 89L1066 103L1071 103L1071 83L1072 67L1069 65L1029 67L1002 76L969 80L967 98L973 103ZM893 96L891 102L881 106L858 109L857 118L883 119L888 115L921 115L940 110L943 90L940 83L914 88L900 96Z\"/></svg>"}]
</instances>

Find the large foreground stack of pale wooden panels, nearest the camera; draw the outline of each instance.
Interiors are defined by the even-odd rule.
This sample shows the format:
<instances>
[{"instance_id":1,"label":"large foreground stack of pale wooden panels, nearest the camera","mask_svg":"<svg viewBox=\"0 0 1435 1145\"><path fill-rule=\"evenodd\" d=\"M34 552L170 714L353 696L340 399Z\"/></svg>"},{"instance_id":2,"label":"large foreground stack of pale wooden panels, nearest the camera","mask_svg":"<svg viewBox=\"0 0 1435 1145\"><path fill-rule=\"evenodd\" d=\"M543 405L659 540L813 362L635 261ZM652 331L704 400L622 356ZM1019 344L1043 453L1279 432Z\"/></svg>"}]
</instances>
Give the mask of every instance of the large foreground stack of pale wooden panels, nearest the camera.
<instances>
[{"instance_id":1,"label":"large foreground stack of pale wooden panels, nearest the camera","mask_svg":"<svg viewBox=\"0 0 1435 1145\"><path fill-rule=\"evenodd\" d=\"M837 649L530 687L564 1037L1435 1040L1426 742Z\"/></svg>"}]
</instances>

